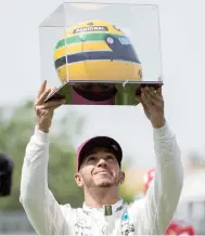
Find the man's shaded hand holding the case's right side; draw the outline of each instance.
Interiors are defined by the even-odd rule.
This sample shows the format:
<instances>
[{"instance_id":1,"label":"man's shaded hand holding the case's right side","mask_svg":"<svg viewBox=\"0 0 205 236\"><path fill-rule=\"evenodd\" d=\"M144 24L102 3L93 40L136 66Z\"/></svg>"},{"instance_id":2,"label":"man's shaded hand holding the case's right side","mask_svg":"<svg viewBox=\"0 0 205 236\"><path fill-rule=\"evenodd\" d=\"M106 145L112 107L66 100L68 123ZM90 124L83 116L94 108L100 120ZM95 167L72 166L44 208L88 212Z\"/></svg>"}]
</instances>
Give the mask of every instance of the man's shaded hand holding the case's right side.
<instances>
[{"instance_id":1,"label":"man's shaded hand holding the case's right side","mask_svg":"<svg viewBox=\"0 0 205 236\"><path fill-rule=\"evenodd\" d=\"M141 95L137 100L142 104L144 113L152 126L159 129L165 126L164 99L162 87L155 90L152 87L141 89Z\"/></svg>"}]
</instances>

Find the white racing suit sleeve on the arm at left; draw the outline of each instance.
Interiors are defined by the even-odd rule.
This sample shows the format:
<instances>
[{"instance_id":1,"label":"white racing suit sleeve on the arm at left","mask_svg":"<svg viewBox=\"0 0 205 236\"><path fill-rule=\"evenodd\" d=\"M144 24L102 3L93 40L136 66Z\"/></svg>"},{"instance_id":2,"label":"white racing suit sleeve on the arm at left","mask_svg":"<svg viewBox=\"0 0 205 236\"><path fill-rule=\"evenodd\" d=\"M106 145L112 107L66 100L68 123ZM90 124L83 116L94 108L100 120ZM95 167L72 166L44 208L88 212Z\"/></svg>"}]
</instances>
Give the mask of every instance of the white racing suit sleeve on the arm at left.
<instances>
[{"instance_id":1,"label":"white racing suit sleeve on the arm at left","mask_svg":"<svg viewBox=\"0 0 205 236\"><path fill-rule=\"evenodd\" d=\"M60 206L48 188L49 135L35 129L24 158L20 201L39 235L72 234L66 217L71 206Z\"/></svg>"}]
</instances>

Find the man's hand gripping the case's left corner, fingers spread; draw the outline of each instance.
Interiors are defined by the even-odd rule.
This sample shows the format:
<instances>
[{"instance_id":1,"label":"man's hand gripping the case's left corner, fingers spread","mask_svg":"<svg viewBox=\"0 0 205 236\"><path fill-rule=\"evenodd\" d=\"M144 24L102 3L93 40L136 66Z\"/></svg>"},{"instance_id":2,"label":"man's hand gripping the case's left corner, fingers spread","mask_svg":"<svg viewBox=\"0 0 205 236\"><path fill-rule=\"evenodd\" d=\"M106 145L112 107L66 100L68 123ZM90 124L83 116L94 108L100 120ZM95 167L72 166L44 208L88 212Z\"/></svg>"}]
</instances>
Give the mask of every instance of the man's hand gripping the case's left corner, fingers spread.
<instances>
[{"instance_id":1,"label":"man's hand gripping the case's left corner, fingers spread","mask_svg":"<svg viewBox=\"0 0 205 236\"><path fill-rule=\"evenodd\" d=\"M44 80L40 87L38 95L35 101L35 112L37 116L38 129L44 133L48 133L52 123L54 109L65 103L65 100L52 101L44 103L47 96L55 90L47 89L47 80Z\"/></svg>"}]
</instances>

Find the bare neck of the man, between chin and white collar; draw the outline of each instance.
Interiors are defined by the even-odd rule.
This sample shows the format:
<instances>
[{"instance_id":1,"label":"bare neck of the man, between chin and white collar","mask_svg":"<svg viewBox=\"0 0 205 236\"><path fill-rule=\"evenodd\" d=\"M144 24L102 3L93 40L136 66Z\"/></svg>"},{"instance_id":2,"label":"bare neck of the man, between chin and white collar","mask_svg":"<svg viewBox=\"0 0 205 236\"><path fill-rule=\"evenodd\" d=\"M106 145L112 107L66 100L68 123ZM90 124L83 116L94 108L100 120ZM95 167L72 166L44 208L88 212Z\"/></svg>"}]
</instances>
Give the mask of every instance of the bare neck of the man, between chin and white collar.
<instances>
[{"instance_id":1,"label":"bare neck of the man, between chin and white collar","mask_svg":"<svg viewBox=\"0 0 205 236\"><path fill-rule=\"evenodd\" d=\"M116 189L92 188L85 191L85 204L91 208L102 208L105 205L114 205L119 200Z\"/></svg>"}]
</instances>

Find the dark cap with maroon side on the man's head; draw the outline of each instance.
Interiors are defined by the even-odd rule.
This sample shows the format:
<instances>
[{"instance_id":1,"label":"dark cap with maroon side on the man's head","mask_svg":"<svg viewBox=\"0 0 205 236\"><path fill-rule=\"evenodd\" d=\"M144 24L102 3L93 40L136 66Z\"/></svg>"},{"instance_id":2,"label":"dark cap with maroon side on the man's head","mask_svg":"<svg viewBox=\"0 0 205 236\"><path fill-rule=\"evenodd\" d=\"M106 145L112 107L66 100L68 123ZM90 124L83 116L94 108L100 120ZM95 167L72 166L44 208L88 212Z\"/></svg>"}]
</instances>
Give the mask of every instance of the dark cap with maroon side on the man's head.
<instances>
[{"instance_id":1,"label":"dark cap with maroon side on the man's head","mask_svg":"<svg viewBox=\"0 0 205 236\"><path fill-rule=\"evenodd\" d=\"M121 159L123 159L123 150L121 150L120 145L117 143L117 141L115 141L114 139L110 136L95 136L89 140L80 149L78 154L78 170L85 157L88 156L89 153L95 147L104 147L104 148L113 150L117 161L120 165Z\"/></svg>"}]
</instances>

